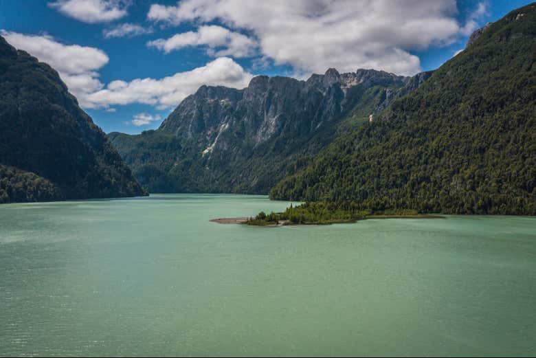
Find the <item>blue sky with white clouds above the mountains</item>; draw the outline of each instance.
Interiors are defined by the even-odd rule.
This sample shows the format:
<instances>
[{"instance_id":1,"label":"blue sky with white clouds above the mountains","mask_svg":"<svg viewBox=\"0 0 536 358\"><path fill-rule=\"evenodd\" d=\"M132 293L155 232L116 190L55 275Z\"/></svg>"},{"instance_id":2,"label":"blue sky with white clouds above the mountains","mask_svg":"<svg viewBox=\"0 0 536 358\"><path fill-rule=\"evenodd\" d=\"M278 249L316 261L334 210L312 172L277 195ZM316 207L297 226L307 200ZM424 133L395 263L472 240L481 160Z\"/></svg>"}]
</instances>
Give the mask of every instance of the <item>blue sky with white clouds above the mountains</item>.
<instances>
[{"instance_id":1,"label":"blue sky with white clouds above the mountains","mask_svg":"<svg viewBox=\"0 0 536 358\"><path fill-rule=\"evenodd\" d=\"M154 129L201 85L436 69L525 0L0 0L0 34L105 132Z\"/></svg>"}]
</instances>

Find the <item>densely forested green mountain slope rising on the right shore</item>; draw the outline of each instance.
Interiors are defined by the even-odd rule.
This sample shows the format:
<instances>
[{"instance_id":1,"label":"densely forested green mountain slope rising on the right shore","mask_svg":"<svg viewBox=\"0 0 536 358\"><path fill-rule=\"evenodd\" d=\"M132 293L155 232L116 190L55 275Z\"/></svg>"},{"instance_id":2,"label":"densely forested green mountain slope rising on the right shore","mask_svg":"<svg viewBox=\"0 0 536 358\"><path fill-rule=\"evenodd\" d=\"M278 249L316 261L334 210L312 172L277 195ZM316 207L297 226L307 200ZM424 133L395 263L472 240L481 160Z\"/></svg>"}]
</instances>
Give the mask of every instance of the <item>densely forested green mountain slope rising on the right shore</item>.
<instances>
[{"instance_id":1,"label":"densely forested green mountain slope rising on the right shore","mask_svg":"<svg viewBox=\"0 0 536 358\"><path fill-rule=\"evenodd\" d=\"M536 215L536 3L510 12L272 199Z\"/></svg>"}]
</instances>

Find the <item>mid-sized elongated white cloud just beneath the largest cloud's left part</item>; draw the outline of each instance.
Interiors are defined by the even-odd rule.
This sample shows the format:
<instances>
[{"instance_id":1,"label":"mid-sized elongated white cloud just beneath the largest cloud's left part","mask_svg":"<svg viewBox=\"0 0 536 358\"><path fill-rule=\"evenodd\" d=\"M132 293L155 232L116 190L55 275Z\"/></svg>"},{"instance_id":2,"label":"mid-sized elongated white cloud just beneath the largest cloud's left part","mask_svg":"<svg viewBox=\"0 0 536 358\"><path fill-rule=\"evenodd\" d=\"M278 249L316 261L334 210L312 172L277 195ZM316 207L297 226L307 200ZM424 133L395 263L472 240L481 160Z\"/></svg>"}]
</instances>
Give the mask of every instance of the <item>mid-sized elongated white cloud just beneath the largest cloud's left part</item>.
<instances>
[{"instance_id":1,"label":"mid-sized elongated white cloud just beneath the largest cloud's left part","mask_svg":"<svg viewBox=\"0 0 536 358\"><path fill-rule=\"evenodd\" d=\"M147 43L166 54L188 46L207 46L210 56L251 57L256 53L256 43L251 38L217 25L201 26L197 32L188 31L170 38L159 38Z\"/></svg>"}]
</instances>

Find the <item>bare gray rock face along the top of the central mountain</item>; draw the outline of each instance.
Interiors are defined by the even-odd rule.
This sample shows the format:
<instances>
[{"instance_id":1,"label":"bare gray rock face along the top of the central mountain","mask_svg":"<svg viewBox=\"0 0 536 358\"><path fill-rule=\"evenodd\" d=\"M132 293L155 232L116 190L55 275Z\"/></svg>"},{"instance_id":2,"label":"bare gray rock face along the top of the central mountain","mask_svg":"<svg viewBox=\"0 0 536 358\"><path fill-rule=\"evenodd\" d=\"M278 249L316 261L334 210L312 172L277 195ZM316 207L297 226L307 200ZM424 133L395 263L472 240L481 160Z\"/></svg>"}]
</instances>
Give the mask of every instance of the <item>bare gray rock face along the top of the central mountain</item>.
<instances>
[{"instance_id":1,"label":"bare gray rock face along the top of the central mountain","mask_svg":"<svg viewBox=\"0 0 536 358\"><path fill-rule=\"evenodd\" d=\"M430 74L404 77L370 69L339 74L336 69L328 69L326 74L313 74L306 81L257 76L242 90L203 86L183 100L159 130L195 139L205 148L214 144L212 150L224 144L214 143L221 131L233 131L238 126L243 126L245 138L256 144L283 131L311 135L354 104L349 89L358 85L363 89L385 87L374 108L378 112L418 87Z\"/></svg>"}]
</instances>

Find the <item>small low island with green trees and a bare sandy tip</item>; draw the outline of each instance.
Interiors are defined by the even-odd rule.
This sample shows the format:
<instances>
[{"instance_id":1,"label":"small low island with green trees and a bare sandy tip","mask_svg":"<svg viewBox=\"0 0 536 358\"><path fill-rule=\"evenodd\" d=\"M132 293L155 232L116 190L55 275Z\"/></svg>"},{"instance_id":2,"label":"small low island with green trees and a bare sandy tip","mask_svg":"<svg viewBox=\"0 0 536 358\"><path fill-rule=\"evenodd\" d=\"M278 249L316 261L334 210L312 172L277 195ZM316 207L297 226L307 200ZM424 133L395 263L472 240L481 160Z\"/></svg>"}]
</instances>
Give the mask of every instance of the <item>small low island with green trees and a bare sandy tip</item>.
<instances>
[{"instance_id":1,"label":"small low island with green trees and a bare sandy tip","mask_svg":"<svg viewBox=\"0 0 536 358\"><path fill-rule=\"evenodd\" d=\"M443 216L421 214L412 209L366 209L353 201L314 202L291 205L284 212L258 213L250 218L212 219L215 223L254 226L331 225L355 223L366 219L439 219Z\"/></svg>"}]
</instances>

